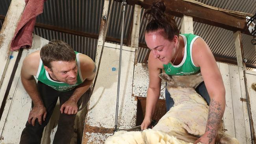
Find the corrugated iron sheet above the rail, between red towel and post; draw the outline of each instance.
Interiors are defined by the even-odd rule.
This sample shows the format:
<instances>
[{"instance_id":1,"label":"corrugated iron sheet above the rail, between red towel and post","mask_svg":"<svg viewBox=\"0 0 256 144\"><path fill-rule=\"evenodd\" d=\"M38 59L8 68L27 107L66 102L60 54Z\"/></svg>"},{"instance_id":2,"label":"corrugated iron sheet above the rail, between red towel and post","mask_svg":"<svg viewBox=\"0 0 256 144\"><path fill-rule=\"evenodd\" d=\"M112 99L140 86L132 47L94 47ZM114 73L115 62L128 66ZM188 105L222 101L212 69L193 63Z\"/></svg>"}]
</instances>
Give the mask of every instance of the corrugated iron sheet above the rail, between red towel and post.
<instances>
[{"instance_id":1,"label":"corrugated iron sheet above the rail, between red towel and post","mask_svg":"<svg viewBox=\"0 0 256 144\"><path fill-rule=\"evenodd\" d=\"M98 33L104 0L47 0L37 22Z\"/></svg>"}]
</instances>

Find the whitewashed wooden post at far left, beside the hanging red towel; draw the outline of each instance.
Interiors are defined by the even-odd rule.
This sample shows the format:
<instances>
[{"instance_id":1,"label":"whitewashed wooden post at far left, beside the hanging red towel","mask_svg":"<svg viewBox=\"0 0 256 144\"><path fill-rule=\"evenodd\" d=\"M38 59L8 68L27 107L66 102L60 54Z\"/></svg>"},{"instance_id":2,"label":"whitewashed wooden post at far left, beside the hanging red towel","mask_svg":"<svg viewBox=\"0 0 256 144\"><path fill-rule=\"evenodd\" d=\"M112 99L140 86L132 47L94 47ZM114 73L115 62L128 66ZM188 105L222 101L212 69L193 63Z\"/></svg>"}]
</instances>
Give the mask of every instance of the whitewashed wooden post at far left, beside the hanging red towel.
<instances>
[{"instance_id":1,"label":"whitewashed wooden post at far left, beside the hanging red towel","mask_svg":"<svg viewBox=\"0 0 256 144\"><path fill-rule=\"evenodd\" d=\"M24 0L12 0L0 31L0 118L4 111L7 98L6 90L8 89L7 87L11 77L13 77L12 71L18 55L18 51L10 51L11 40L13 39L24 7Z\"/></svg>"}]
</instances>

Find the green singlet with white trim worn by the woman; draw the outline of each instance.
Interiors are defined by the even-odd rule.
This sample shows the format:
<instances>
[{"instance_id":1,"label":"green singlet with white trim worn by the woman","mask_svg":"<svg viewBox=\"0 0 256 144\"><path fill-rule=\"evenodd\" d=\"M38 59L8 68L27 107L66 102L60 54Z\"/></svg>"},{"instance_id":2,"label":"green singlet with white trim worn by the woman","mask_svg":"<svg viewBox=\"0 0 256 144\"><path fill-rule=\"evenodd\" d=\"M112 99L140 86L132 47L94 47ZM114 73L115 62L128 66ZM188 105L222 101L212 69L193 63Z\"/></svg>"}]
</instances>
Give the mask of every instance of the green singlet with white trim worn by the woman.
<instances>
[{"instance_id":1,"label":"green singlet with white trim worn by the woman","mask_svg":"<svg viewBox=\"0 0 256 144\"><path fill-rule=\"evenodd\" d=\"M200 70L200 67L195 66L192 59L192 46L195 40L199 37L197 35L180 34L184 39L185 51L182 62L179 65L163 65L165 73L171 76L183 76L195 74Z\"/></svg>"}]
</instances>

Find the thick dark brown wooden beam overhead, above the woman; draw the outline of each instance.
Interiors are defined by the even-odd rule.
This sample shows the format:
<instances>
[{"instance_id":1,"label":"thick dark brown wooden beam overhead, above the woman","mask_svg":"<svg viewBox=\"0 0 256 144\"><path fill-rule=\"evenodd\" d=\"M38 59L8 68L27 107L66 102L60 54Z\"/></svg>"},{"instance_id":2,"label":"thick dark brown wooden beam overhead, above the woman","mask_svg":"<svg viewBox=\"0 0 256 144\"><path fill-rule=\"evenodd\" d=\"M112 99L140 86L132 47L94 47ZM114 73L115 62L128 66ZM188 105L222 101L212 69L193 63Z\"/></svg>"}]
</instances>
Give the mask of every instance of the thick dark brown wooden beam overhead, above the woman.
<instances>
[{"instance_id":1,"label":"thick dark brown wooden beam overhead, above the woman","mask_svg":"<svg viewBox=\"0 0 256 144\"><path fill-rule=\"evenodd\" d=\"M154 0L144 0L141 2L140 0L128 0L127 3L130 5L137 4L145 9L148 9L153 1ZM183 0L164 1L166 4L166 11L170 15L174 15L176 17L183 17L183 15L187 15L193 17L193 20L196 22L249 34L246 26L246 16L210 9L208 7L203 7L191 2L185 2Z\"/></svg>"}]
</instances>

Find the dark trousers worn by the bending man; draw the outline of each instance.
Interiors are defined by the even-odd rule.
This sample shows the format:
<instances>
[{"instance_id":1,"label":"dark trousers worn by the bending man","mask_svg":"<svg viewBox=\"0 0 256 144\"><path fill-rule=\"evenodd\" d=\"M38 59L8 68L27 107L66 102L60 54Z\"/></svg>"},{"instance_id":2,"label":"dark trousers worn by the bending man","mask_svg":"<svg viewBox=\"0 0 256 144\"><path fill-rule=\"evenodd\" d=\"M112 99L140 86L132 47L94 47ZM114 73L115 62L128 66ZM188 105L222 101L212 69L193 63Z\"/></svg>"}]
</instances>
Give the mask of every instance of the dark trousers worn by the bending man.
<instances>
[{"instance_id":1,"label":"dark trousers worn by the bending man","mask_svg":"<svg viewBox=\"0 0 256 144\"><path fill-rule=\"evenodd\" d=\"M52 89L48 85L43 84L41 81L37 83L37 89L46 107L46 118L45 121L42 120L42 125L39 124L38 120L35 120L35 126L32 126L28 122L26 127L23 129L20 144L40 144L43 135L44 127L48 124L50 117L54 111L54 107L57 103L59 97L59 103L62 105L70 96L73 94L74 90L68 92L59 92ZM78 107L81 105L81 98L78 101ZM33 107L33 102L32 102ZM59 114L59 122L56 134L54 136L53 144L69 144L74 132L74 120L76 114Z\"/></svg>"}]
</instances>

